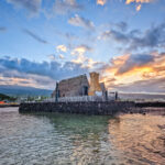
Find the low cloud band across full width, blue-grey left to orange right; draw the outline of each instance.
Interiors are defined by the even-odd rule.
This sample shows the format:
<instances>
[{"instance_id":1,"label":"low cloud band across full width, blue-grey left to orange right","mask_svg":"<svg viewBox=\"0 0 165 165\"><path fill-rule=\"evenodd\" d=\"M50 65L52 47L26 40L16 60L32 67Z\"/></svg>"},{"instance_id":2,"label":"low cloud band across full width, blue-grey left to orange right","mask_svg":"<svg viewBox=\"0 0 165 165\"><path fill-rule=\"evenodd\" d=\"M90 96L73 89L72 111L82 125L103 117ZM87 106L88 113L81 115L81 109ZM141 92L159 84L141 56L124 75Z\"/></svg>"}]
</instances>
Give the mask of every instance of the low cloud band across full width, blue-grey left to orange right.
<instances>
[{"instance_id":1,"label":"low cloud band across full width, blue-grey left to orange right","mask_svg":"<svg viewBox=\"0 0 165 165\"><path fill-rule=\"evenodd\" d=\"M101 81L112 91L165 91L164 52L124 54L113 57L109 63L99 63L85 56L86 51L82 50L90 51L89 47L77 47L79 54L75 54L76 58L63 64L56 61L36 63L25 58L0 58L0 82L53 88L55 80L97 70L101 73Z\"/></svg>"}]
</instances>

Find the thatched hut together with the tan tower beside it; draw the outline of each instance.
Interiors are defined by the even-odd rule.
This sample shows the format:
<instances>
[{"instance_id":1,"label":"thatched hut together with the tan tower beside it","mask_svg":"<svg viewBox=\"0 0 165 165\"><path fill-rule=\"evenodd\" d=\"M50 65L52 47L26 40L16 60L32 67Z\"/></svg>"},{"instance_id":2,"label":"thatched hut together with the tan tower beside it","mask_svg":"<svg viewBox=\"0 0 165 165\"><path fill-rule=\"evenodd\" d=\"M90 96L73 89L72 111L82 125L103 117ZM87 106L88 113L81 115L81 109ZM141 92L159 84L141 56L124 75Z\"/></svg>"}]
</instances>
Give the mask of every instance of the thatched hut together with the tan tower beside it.
<instances>
[{"instance_id":1,"label":"thatched hut together with the tan tower beside it","mask_svg":"<svg viewBox=\"0 0 165 165\"><path fill-rule=\"evenodd\" d=\"M105 96L105 84L99 82L99 74L90 73L90 85L86 75L64 79L56 85L52 97Z\"/></svg>"}]
</instances>

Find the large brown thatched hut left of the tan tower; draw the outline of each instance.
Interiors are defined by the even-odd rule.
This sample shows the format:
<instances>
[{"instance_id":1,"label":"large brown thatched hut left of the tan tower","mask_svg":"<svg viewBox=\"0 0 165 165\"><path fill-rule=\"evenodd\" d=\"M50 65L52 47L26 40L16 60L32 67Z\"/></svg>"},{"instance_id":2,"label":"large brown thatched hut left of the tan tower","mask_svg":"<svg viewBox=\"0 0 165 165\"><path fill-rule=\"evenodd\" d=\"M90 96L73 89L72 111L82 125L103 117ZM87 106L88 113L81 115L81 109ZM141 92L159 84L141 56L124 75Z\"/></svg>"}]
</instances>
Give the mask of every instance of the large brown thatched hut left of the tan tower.
<instances>
[{"instance_id":1,"label":"large brown thatched hut left of the tan tower","mask_svg":"<svg viewBox=\"0 0 165 165\"><path fill-rule=\"evenodd\" d=\"M55 89L52 94L54 98L56 92L58 97L75 97L75 96L88 96L89 82L86 75L80 75L78 77L64 79L59 81L58 89Z\"/></svg>"}]
</instances>

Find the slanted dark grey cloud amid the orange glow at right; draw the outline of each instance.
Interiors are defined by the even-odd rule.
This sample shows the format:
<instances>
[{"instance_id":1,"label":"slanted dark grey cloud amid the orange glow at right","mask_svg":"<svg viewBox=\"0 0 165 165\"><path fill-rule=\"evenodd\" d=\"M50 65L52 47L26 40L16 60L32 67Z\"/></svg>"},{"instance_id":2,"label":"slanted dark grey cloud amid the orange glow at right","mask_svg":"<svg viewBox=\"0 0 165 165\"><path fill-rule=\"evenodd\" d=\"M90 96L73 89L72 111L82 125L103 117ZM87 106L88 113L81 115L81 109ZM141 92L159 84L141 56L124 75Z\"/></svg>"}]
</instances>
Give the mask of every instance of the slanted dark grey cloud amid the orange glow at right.
<instances>
[{"instance_id":1,"label":"slanted dark grey cloud amid the orange glow at right","mask_svg":"<svg viewBox=\"0 0 165 165\"><path fill-rule=\"evenodd\" d=\"M154 62L154 56L148 54L130 55L125 63L118 69L117 75L124 74L134 67L140 67L151 62Z\"/></svg>"}]
</instances>

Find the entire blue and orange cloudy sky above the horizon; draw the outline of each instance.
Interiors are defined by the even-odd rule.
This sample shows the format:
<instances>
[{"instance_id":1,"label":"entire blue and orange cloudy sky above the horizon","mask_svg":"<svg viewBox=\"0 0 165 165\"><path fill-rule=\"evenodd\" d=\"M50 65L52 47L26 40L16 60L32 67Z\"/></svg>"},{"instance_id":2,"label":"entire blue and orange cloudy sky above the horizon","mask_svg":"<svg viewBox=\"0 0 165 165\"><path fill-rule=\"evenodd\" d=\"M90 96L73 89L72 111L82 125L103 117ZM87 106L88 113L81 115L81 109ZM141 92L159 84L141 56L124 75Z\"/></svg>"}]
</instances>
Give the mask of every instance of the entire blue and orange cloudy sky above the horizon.
<instances>
[{"instance_id":1,"label":"entire blue and orange cloudy sky above the horizon","mask_svg":"<svg viewBox=\"0 0 165 165\"><path fill-rule=\"evenodd\" d=\"M0 85L90 72L109 91L165 94L165 1L0 0Z\"/></svg>"}]
</instances>

